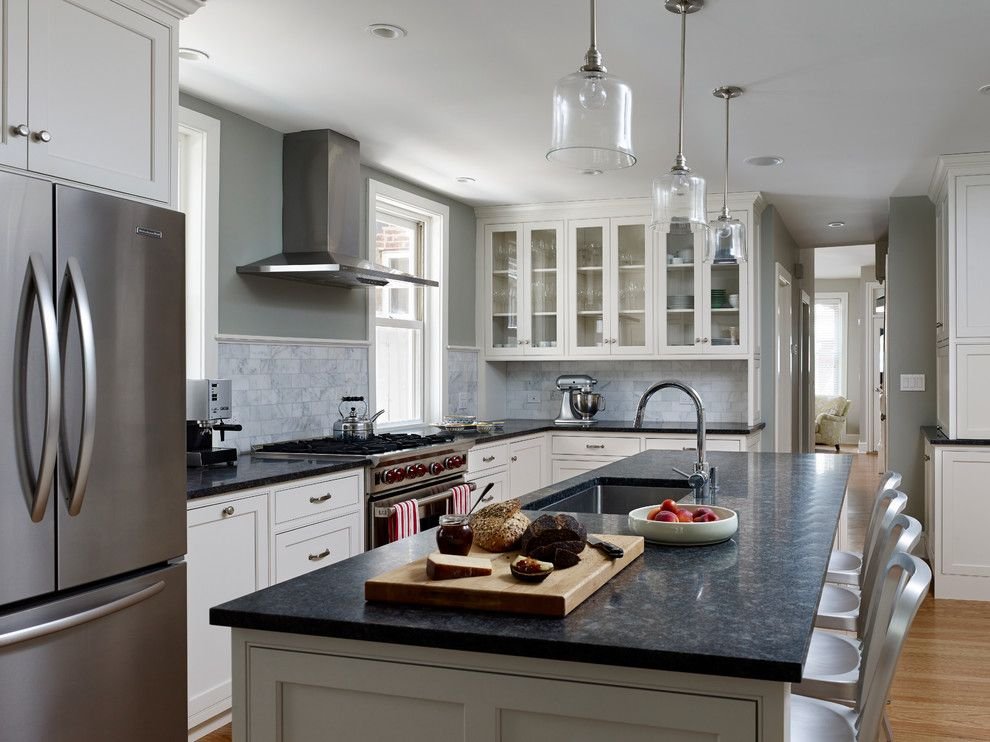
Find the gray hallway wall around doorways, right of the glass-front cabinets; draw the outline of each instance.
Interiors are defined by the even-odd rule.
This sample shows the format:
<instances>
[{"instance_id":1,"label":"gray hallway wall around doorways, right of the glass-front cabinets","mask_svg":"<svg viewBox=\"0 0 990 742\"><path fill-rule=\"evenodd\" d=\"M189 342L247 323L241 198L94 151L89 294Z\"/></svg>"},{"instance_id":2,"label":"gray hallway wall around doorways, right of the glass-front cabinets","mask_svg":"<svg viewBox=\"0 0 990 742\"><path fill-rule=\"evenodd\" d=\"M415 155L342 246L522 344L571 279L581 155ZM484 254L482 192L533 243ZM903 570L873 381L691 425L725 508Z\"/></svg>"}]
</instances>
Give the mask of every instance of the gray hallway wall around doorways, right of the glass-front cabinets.
<instances>
[{"instance_id":1,"label":"gray hallway wall around doorways, right of the glass-front cabinets","mask_svg":"<svg viewBox=\"0 0 990 742\"><path fill-rule=\"evenodd\" d=\"M791 283L793 292L792 306L793 323L792 331L794 342L801 340L801 290L804 288L808 294L813 294L814 286L814 260L813 251L802 250L794 241L787 225L780 218L780 214L773 206L768 206L763 212L760 222L760 345L761 345L761 367L760 367L760 397L762 399L763 419L767 424L763 431L764 448L772 450L776 436L776 397L775 386L775 348L776 335L774 327L774 313L776 303L776 267L780 263L788 273L794 276L794 266L802 263L804 266L804 279L798 280L796 277ZM812 335L812 343L814 337ZM803 449L801 422L801 379L799 373L798 359L795 358L794 384L791 389L791 414L794 423L792 425L793 439L791 449L800 451ZM813 381L813 373L809 375L809 383ZM807 427L807 426L805 426Z\"/></svg>"}]
</instances>

